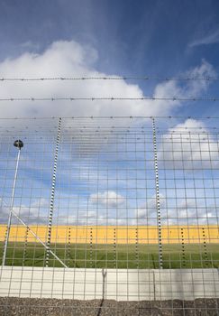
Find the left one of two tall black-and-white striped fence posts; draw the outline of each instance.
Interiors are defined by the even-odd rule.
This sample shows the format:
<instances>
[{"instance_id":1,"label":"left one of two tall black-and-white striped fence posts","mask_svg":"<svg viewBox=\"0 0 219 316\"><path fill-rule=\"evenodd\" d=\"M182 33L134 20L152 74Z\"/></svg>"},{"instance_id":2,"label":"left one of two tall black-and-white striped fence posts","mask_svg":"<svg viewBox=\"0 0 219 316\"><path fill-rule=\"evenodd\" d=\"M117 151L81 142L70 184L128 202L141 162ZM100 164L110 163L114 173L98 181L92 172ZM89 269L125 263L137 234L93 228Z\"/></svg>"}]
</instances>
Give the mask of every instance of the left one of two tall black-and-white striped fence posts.
<instances>
[{"instance_id":1,"label":"left one of two tall black-and-white striped fence posts","mask_svg":"<svg viewBox=\"0 0 219 316\"><path fill-rule=\"evenodd\" d=\"M53 174L52 174L52 181L51 181L50 213L49 213L49 224L48 224L48 232L47 232L47 249L46 249L46 267L49 266L49 259L50 259L50 240L51 240L52 218L53 218L53 211L54 211L60 133L61 133L61 117L59 117L58 134L56 138L55 157L54 157Z\"/></svg>"}]
</instances>

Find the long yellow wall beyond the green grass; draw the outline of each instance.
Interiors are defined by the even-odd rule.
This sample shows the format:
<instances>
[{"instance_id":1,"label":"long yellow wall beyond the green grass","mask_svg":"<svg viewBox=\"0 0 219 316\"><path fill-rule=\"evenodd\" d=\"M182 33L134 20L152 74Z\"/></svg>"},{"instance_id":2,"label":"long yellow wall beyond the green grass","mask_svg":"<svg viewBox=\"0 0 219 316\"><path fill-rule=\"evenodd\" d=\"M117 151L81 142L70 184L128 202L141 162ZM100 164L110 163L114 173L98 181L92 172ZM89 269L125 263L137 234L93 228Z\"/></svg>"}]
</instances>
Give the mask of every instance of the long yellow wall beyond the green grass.
<instances>
[{"instance_id":1,"label":"long yellow wall beyond the green grass","mask_svg":"<svg viewBox=\"0 0 219 316\"><path fill-rule=\"evenodd\" d=\"M32 231L47 240L46 226L31 226ZM0 241L5 240L5 225L0 225ZM219 227L212 226L163 226L162 243L219 243ZM23 242L27 229L23 226L12 226L10 241ZM35 242L31 232L27 235L28 242ZM52 243L94 243L94 244L157 244L158 228L155 226L53 226L51 231Z\"/></svg>"}]
</instances>

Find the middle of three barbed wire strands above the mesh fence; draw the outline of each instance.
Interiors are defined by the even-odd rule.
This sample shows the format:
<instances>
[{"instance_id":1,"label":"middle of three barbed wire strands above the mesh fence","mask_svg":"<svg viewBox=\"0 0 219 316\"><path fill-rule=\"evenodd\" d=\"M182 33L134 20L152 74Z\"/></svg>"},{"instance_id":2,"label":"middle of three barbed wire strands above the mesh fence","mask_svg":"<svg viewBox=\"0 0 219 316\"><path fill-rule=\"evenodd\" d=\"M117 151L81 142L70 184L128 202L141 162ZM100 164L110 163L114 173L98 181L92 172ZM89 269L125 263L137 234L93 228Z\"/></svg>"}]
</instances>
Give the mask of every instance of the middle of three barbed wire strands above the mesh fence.
<instances>
[{"instance_id":1,"label":"middle of three barbed wire strands above the mesh fence","mask_svg":"<svg viewBox=\"0 0 219 316\"><path fill-rule=\"evenodd\" d=\"M210 97L210 98L180 98L180 97L141 97L141 98L123 98L123 97L88 97L88 98L78 98L78 97L50 97L50 98L0 98L0 101L143 101L143 100L151 100L151 101L219 101L219 97Z\"/></svg>"}]
</instances>

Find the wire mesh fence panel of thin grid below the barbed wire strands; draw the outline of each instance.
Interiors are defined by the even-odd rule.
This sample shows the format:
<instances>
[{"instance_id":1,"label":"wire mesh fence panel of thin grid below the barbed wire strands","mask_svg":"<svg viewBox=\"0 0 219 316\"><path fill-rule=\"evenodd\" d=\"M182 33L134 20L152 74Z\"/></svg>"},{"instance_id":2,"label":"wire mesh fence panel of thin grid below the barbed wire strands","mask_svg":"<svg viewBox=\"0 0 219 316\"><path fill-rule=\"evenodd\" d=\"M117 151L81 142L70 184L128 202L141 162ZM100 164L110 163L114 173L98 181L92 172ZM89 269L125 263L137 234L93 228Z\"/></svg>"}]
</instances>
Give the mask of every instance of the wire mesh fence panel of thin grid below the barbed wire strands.
<instances>
[{"instance_id":1,"label":"wire mesh fence panel of thin grid below the barbed wire strands","mask_svg":"<svg viewBox=\"0 0 219 316\"><path fill-rule=\"evenodd\" d=\"M214 117L2 119L0 313L218 315L218 136Z\"/></svg>"}]
</instances>

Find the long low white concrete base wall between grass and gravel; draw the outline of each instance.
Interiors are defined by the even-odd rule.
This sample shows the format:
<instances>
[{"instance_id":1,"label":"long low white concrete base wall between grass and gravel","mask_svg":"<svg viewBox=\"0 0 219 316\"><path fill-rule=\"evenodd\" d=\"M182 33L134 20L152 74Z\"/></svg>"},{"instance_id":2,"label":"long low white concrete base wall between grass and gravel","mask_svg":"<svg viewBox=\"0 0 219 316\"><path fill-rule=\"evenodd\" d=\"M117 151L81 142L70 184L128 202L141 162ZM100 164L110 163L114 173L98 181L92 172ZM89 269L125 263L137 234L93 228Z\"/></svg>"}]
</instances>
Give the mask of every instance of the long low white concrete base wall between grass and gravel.
<instances>
[{"instance_id":1,"label":"long low white concrete base wall between grass and gravel","mask_svg":"<svg viewBox=\"0 0 219 316\"><path fill-rule=\"evenodd\" d=\"M217 269L0 267L0 296L116 301L219 298Z\"/></svg>"}]
</instances>

